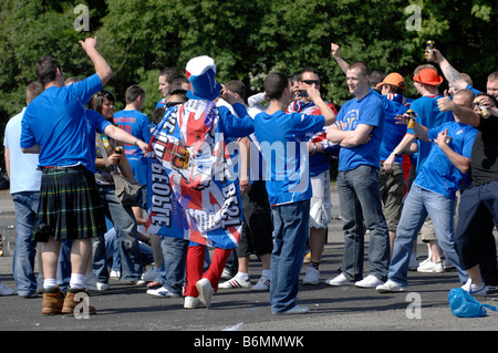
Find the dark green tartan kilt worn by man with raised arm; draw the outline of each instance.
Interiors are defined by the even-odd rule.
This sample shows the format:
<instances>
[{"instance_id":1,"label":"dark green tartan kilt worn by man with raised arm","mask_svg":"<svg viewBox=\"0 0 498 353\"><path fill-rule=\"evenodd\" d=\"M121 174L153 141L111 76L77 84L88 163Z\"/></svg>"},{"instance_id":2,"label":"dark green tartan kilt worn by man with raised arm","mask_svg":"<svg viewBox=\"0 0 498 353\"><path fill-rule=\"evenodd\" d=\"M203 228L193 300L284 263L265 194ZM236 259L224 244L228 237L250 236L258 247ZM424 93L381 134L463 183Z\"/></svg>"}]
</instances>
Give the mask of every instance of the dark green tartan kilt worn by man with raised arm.
<instances>
[{"instance_id":1,"label":"dark green tartan kilt worn by man with raised arm","mask_svg":"<svg viewBox=\"0 0 498 353\"><path fill-rule=\"evenodd\" d=\"M35 241L86 239L107 231L95 176L84 166L43 168L40 205L32 238Z\"/></svg>"}]
</instances>

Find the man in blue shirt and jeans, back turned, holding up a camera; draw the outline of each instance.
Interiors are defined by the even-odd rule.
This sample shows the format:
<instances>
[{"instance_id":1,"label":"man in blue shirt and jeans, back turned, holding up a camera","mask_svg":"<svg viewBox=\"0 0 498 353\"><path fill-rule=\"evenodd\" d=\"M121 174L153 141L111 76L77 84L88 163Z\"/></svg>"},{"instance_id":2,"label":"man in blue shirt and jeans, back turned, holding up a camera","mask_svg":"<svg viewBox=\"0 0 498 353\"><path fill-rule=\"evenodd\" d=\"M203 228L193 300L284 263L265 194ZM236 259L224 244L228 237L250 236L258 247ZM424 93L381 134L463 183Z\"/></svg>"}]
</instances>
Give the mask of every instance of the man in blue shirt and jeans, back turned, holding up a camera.
<instances>
[{"instance_id":1,"label":"man in blue shirt and jeans, back turned, holding up a camera","mask_svg":"<svg viewBox=\"0 0 498 353\"><path fill-rule=\"evenodd\" d=\"M309 311L295 303L312 195L307 134L317 133L335 121L314 84L308 94L323 115L287 114L295 90L286 74L270 73L264 80L269 107L255 117L255 135L267 165L266 185L273 214L270 304L274 314Z\"/></svg>"}]
</instances>

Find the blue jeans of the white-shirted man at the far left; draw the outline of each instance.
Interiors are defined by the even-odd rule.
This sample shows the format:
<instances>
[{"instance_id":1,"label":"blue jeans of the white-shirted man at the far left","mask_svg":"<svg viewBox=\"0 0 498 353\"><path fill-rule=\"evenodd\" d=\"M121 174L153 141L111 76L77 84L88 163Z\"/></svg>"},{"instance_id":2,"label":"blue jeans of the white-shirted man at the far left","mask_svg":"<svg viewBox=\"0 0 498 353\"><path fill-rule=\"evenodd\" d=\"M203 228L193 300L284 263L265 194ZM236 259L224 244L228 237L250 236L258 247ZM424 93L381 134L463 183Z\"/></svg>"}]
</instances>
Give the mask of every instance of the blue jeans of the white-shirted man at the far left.
<instances>
[{"instance_id":1,"label":"blue jeans of the white-shirted man at the far left","mask_svg":"<svg viewBox=\"0 0 498 353\"><path fill-rule=\"evenodd\" d=\"M37 279L34 277L37 242L32 240L31 231L40 204L40 191L12 194L12 201L15 210L17 230L12 272L18 294L29 297L37 291Z\"/></svg>"}]
</instances>

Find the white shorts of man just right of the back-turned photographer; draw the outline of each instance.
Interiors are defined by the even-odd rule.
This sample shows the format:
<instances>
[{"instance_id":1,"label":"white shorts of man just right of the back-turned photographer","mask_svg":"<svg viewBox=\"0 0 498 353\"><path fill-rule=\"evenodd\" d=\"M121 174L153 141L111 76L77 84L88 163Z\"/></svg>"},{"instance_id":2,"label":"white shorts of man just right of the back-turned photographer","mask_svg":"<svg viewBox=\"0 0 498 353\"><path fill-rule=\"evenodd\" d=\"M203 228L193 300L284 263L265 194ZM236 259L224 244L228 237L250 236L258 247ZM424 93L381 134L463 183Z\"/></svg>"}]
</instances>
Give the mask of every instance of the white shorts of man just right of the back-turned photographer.
<instances>
[{"instance_id":1,"label":"white shorts of man just right of the back-turned photographer","mask_svg":"<svg viewBox=\"0 0 498 353\"><path fill-rule=\"evenodd\" d=\"M332 220L332 199L330 195L330 172L311 177L313 196L310 200L310 228L328 228Z\"/></svg>"}]
</instances>

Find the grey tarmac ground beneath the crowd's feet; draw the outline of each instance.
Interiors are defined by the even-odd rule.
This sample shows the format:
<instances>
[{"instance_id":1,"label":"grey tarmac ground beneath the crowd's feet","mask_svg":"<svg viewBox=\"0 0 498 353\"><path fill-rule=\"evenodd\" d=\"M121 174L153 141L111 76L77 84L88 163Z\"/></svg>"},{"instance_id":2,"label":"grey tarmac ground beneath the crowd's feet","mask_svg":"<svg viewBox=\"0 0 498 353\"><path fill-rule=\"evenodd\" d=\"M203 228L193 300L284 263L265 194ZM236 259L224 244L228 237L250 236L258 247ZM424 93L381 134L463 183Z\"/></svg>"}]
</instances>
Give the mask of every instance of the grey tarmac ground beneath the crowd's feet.
<instances>
[{"instance_id":1,"label":"grey tarmac ground beneath the crowd's feet","mask_svg":"<svg viewBox=\"0 0 498 353\"><path fill-rule=\"evenodd\" d=\"M335 190L332 190L332 203L333 214L338 216L339 198ZM3 230L4 227L14 224L13 204L9 190L0 191L0 210L2 211L0 226ZM13 238L14 232L10 232ZM3 248L6 249L8 246L4 240ZM367 238L365 247L367 247ZM427 257L426 245L419 241L417 249L418 259L424 260ZM8 251L11 250L13 250L12 242ZM378 331L464 332L495 331L498 328L498 312L487 310L487 316L476 319L457 318L450 312L448 292L452 288L460 287L455 270L444 273L411 271L408 290L403 293L381 294L374 289L333 288L324 284L325 279L339 274L342 251L341 221L334 219L330 224L323 262L320 264L321 283L300 285L298 304L310 308L310 312L307 314L274 315L271 313L268 292L255 292L250 289L220 289L212 298L211 309L186 310L183 308L184 300L181 298L155 298L145 293L145 285L136 287L132 283L111 280L107 291L92 291L90 304L97 309L97 313L87 318L42 315L41 295L34 299L23 299L17 294L0 297L0 330L90 331L96 333L115 331L121 333L120 341L122 338L127 338L126 332L129 331L174 331L187 339L187 343L194 347L197 345L209 347L212 342L203 342L201 339L226 338L226 333L221 333L221 331L227 329L238 329L245 334L252 334L251 338L255 338L255 334L261 336L262 332L266 335L276 335L277 333L281 335L287 332L304 336L304 340L311 335L315 342L314 336L319 336L323 341L333 339L326 334L326 331L342 331L343 333L347 331L363 333ZM12 253L0 257L0 281L9 288L14 288L11 266ZM301 280L305 268L307 266L303 266ZM365 269L367 269L366 260ZM253 284L258 281L260 273L260 262L257 258L251 258L250 276ZM498 293L491 293L478 300L498 307ZM175 338L176 333L168 336ZM350 336L346 335L346 338ZM249 342L245 349L272 344L264 340L258 340L253 339L252 343ZM308 347L311 344L309 341L307 341ZM273 344L280 343L282 342L273 342ZM361 343L355 342L355 344ZM238 344L240 347L242 341ZM232 344L231 349L234 347Z\"/></svg>"}]
</instances>

